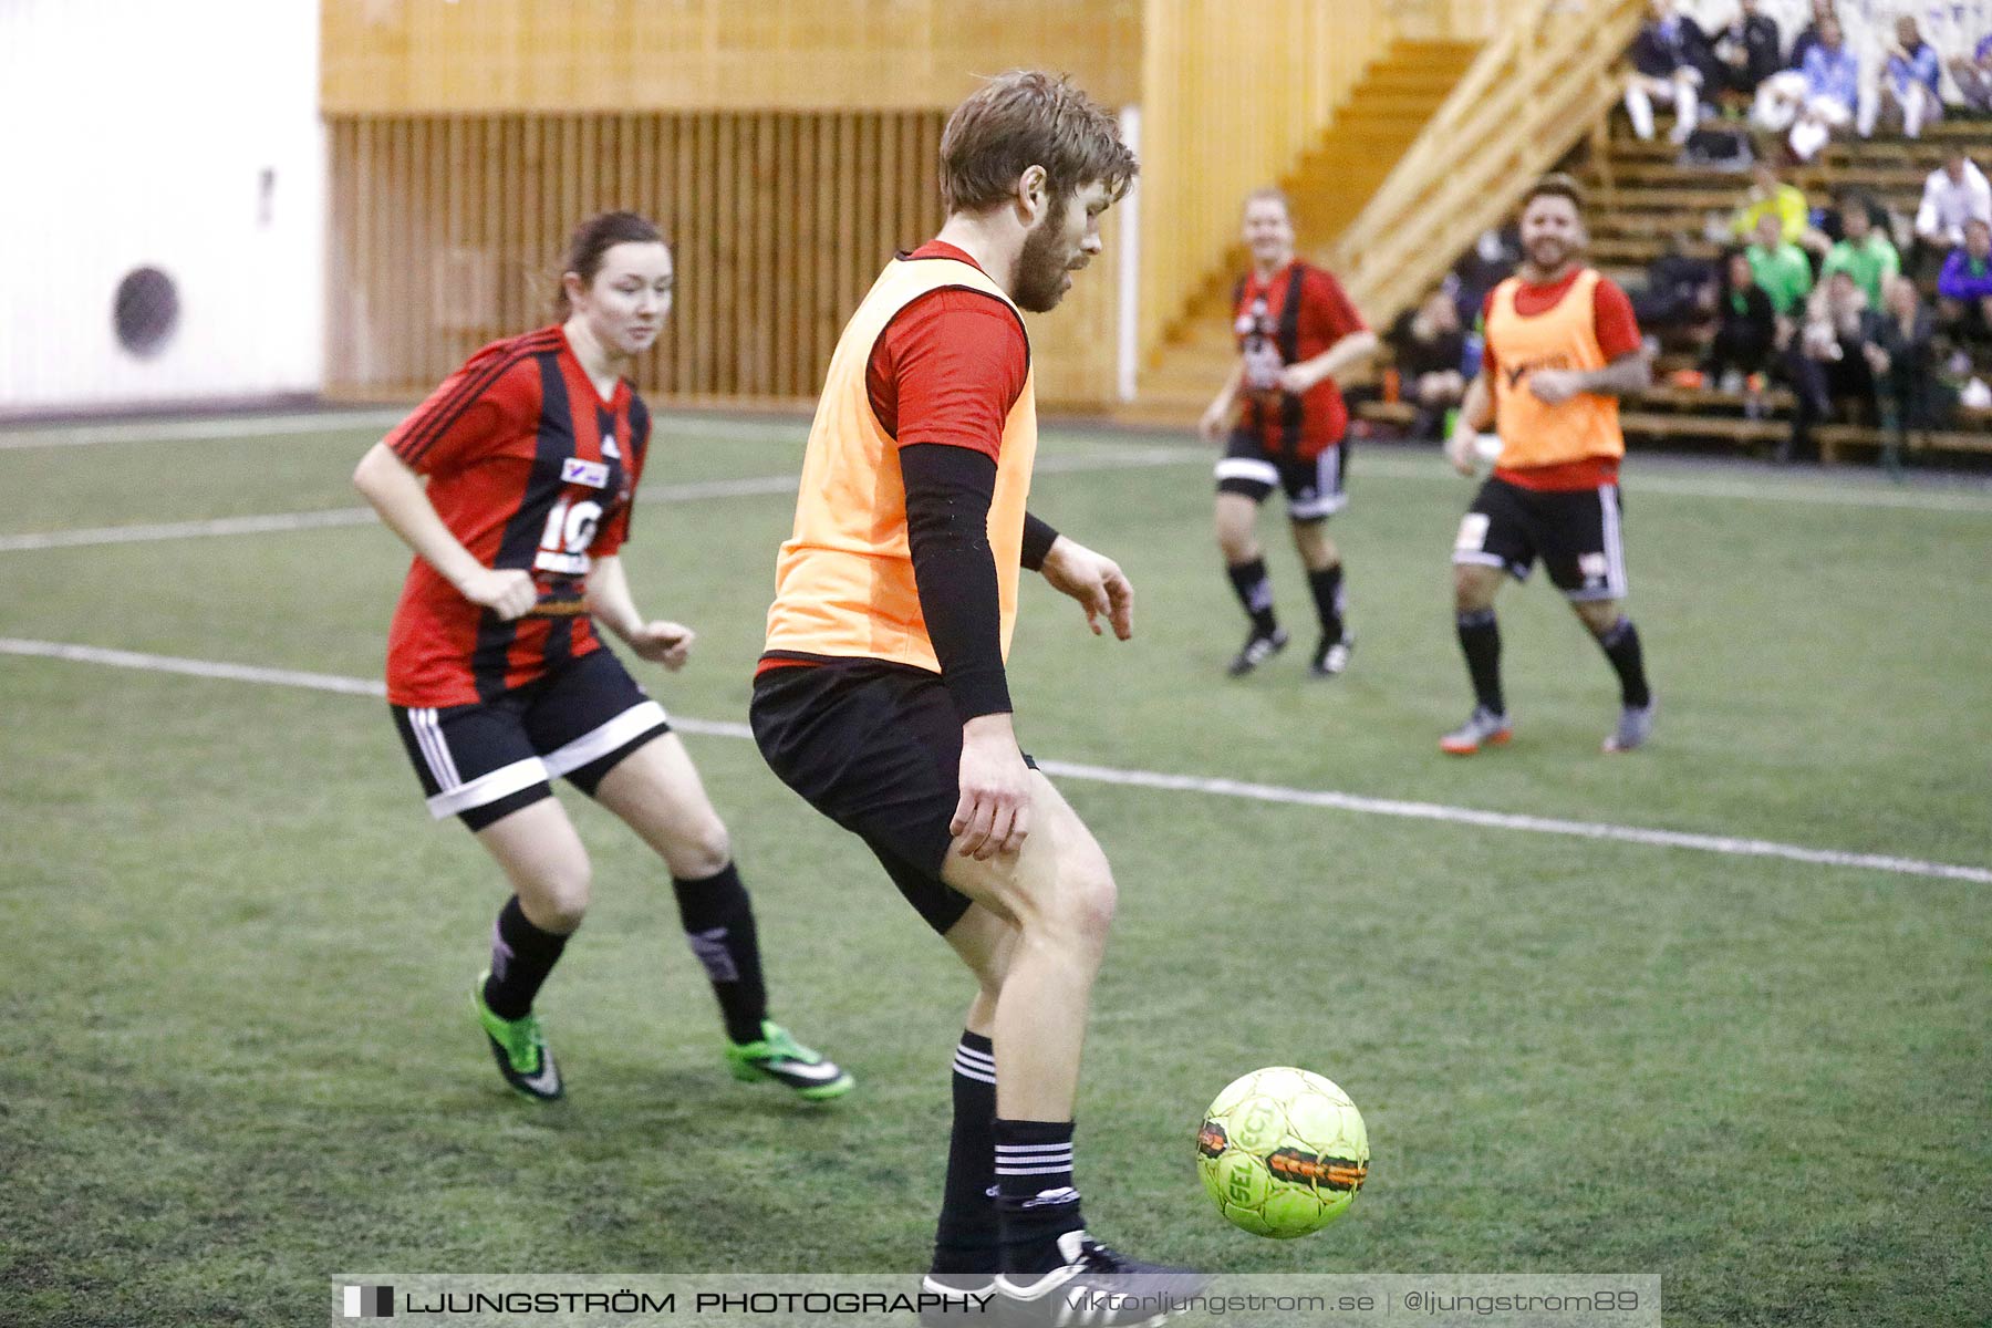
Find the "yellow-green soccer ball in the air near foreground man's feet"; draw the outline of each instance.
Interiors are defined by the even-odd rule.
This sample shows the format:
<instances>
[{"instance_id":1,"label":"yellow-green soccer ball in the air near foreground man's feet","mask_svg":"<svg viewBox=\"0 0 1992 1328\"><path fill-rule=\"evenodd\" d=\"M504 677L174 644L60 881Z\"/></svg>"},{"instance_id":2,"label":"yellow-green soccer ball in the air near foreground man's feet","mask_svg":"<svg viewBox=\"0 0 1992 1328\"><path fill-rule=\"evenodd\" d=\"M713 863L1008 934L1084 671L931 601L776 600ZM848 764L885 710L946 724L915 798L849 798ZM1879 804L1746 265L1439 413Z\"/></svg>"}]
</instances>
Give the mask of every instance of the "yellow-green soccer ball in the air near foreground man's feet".
<instances>
[{"instance_id":1,"label":"yellow-green soccer ball in the air near foreground man's feet","mask_svg":"<svg viewBox=\"0 0 1992 1328\"><path fill-rule=\"evenodd\" d=\"M1255 1236L1321 1230L1369 1177L1363 1113L1331 1081L1291 1065L1255 1069L1217 1095L1197 1131L1197 1173L1217 1211Z\"/></svg>"}]
</instances>

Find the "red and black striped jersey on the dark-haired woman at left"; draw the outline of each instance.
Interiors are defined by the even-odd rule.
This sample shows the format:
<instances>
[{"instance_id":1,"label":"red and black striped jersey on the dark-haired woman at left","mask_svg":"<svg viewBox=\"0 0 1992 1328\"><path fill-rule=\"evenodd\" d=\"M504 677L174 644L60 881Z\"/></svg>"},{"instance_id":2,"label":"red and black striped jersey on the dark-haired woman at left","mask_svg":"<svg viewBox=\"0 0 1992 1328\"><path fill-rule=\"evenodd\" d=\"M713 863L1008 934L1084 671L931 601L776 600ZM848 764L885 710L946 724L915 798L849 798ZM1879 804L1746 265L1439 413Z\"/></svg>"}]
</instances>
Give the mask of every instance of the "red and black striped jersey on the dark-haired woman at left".
<instances>
[{"instance_id":1,"label":"red and black striped jersey on the dark-haired woman at left","mask_svg":"<svg viewBox=\"0 0 1992 1328\"><path fill-rule=\"evenodd\" d=\"M600 649L584 607L590 559L629 538L649 410L627 380L602 400L560 327L498 340L386 436L428 476L428 502L486 567L520 567L540 603L510 623L420 557L388 629L394 705L490 701Z\"/></svg>"}]
</instances>

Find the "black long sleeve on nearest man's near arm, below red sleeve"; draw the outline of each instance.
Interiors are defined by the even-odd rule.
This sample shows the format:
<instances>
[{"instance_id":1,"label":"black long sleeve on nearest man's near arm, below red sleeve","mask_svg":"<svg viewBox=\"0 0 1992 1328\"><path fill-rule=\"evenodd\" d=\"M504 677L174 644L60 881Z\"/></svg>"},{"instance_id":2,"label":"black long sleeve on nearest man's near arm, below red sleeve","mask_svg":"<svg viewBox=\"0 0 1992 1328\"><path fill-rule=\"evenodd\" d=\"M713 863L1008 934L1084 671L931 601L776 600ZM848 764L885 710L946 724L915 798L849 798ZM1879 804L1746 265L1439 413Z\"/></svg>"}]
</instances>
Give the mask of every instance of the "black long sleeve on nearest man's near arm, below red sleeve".
<instances>
[{"instance_id":1,"label":"black long sleeve on nearest man's near arm, below red sleeve","mask_svg":"<svg viewBox=\"0 0 1992 1328\"><path fill-rule=\"evenodd\" d=\"M926 637L940 659L940 681L962 723L1008 713L1002 601L988 532L996 462L974 448L916 442L898 450L898 466L906 484L912 581Z\"/></svg>"}]
</instances>

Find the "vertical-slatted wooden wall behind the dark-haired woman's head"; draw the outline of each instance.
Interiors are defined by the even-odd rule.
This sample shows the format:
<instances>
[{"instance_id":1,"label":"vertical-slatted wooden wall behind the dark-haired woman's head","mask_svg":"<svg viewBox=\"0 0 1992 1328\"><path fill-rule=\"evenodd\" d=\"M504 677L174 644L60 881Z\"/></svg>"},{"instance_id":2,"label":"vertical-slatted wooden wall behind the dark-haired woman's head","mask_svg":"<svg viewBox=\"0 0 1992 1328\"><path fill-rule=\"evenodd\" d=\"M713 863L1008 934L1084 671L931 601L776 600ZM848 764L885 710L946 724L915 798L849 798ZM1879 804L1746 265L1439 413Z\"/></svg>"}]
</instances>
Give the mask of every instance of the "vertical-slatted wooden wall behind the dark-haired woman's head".
<instances>
[{"instance_id":1,"label":"vertical-slatted wooden wall behind the dark-haired woman's head","mask_svg":"<svg viewBox=\"0 0 1992 1328\"><path fill-rule=\"evenodd\" d=\"M665 229L677 303L637 370L677 398L809 400L894 249L940 229L940 111L335 117L329 390L402 396L544 325L574 225ZM1038 396L1114 392L1114 271L1032 317Z\"/></svg>"}]
</instances>

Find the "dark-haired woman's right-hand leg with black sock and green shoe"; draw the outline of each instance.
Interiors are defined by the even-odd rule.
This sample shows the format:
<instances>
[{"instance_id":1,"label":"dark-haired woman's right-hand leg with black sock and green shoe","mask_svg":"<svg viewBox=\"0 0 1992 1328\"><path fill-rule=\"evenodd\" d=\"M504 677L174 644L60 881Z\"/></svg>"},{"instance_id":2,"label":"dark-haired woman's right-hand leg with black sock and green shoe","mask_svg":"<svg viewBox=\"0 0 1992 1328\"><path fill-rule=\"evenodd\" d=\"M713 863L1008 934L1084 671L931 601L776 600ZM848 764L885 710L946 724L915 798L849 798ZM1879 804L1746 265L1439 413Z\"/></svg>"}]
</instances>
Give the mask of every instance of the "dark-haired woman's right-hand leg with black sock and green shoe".
<instances>
[{"instance_id":1,"label":"dark-haired woman's right-hand leg with black sock and green shoe","mask_svg":"<svg viewBox=\"0 0 1992 1328\"><path fill-rule=\"evenodd\" d=\"M691 954L705 966L741 1079L781 1083L805 1101L843 1097L853 1079L767 1017L753 900L733 866L727 828L675 733L645 743L602 776L596 800L657 850Z\"/></svg>"}]
</instances>

